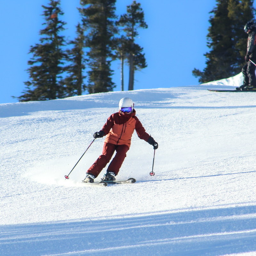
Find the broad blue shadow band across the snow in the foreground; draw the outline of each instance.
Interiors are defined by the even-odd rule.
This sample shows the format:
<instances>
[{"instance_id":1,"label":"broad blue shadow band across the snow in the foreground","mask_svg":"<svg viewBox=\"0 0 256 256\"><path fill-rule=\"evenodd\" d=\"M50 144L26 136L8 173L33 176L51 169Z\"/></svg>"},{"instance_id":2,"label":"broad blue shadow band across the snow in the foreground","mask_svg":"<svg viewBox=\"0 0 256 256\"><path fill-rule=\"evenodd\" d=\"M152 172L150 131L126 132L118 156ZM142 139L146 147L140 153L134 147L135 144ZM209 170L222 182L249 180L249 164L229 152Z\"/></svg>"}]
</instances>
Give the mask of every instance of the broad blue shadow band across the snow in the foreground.
<instances>
[{"instance_id":1,"label":"broad blue shadow band across the snow in the foreground","mask_svg":"<svg viewBox=\"0 0 256 256\"><path fill-rule=\"evenodd\" d=\"M256 206L1 226L2 256L222 255L256 251Z\"/></svg>"}]
</instances>

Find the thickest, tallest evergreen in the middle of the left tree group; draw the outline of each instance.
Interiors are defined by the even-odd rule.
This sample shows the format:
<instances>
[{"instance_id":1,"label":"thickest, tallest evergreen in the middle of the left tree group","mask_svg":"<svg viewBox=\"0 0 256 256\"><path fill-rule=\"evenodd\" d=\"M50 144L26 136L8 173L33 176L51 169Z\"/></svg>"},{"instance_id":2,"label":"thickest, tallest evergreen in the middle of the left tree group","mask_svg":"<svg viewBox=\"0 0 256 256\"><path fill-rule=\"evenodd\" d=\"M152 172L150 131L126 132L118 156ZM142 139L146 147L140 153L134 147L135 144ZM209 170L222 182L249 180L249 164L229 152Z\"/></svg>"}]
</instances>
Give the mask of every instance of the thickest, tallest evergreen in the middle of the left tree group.
<instances>
[{"instance_id":1,"label":"thickest, tallest evergreen in the middle of the left tree group","mask_svg":"<svg viewBox=\"0 0 256 256\"><path fill-rule=\"evenodd\" d=\"M116 87L112 82L113 70L110 68L114 49L116 0L81 0L80 8L83 25L88 29L86 47L90 67L87 90L89 93L109 92Z\"/></svg>"}]
</instances>

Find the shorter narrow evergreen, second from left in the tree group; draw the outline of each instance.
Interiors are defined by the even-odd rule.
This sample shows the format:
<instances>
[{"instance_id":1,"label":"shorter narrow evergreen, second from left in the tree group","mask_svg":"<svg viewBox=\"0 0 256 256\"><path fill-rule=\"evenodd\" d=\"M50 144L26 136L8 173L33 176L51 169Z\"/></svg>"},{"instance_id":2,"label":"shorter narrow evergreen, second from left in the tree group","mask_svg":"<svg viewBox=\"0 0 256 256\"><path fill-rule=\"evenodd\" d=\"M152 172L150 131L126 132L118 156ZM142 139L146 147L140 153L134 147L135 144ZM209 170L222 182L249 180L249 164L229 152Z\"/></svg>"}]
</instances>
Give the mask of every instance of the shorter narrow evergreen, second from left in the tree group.
<instances>
[{"instance_id":1,"label":"shorter narrow evergreen, second from left in the tree group","mask_svg":"<svg viewBox=\"0 0 256 256\"><path fill-rule=\"evenodd\" d=\"M82 95L85 90L85 84L83 80L86 76L83 76L83 70L85 69L85 59L84 59L84 46L85 46L85 36L84 29L81 27L80 23L76 26L77 37L75 40L68 42L68 44L73 44L74 47L71 50L67 50L68 58L67 60L71 62L65 68L65 71L69 74L61 84L66 88L66 97L71 97L75 95Z\"/></svg>"}]
</instances>

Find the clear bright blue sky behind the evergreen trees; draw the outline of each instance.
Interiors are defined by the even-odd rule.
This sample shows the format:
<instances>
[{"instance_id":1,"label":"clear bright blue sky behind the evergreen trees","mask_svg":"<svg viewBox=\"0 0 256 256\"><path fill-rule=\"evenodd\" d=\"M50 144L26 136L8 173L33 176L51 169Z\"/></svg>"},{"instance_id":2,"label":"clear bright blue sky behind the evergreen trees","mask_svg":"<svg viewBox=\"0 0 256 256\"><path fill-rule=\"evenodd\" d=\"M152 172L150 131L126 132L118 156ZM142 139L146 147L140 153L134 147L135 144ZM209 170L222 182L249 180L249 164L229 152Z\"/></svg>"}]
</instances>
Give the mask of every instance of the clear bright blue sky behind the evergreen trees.
<instances>
[{"instance_id":1,"label":"clear bright blue sky behind the evergreen trees","mask_svg":"<svg viewBox=\"0 0 256 256\"><path fill-rule=\"evenodd\" d=\"M136 43L144 47L148 67L135 73L134 89L151 89L198 84L192 70L205 67L204 53L209 27L209 12L216 6L215 0L140 0L145 13L147 29L139 29ZM28 80L28 54L30 45L38 43L39 30L44 22L42 5L48 0L2 1L0 10L0 103L18 102L11 96L20 96ZM76 7L79 0L62 0L65 13L61 19L67 22L63 35L74 39L75 26L80 21ZM116 14L126 12L132 0L117 0ZM114 91L121 90L119 61L112 62ZM124 73L124 90L128 89L128 66Z\"/></svg>"}]
</instances>

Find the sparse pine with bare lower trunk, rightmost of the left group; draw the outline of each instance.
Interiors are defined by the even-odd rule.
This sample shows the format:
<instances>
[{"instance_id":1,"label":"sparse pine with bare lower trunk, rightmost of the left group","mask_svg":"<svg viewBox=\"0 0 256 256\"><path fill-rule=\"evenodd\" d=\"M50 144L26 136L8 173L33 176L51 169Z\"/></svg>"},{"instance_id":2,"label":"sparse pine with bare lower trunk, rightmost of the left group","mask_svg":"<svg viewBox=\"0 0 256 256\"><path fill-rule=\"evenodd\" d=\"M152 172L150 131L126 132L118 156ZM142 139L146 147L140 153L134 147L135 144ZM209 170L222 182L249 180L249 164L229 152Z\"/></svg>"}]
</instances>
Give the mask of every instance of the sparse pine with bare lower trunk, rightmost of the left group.
<instances>
[{"instance_id":1,"label":"sparse pine with bare lower trunk, rightmost of the left group","mask_svg":"<svg viewBox=\"0 0 256 256\"><path fill-rule=\"evenodd\" d=\"M148 28L144 21L144 12L140 7L140 3L133 1L127 6L127 13L121 15L117 25L124 27L124 32L129 42L129 86L128 90L133 90L134 71L146 68L145 54L142 54L143 48L135 44L135 37L139 35L138 28Z\"/></svg>"}]
</instances>

